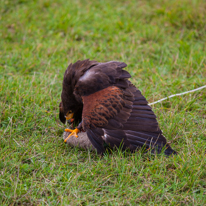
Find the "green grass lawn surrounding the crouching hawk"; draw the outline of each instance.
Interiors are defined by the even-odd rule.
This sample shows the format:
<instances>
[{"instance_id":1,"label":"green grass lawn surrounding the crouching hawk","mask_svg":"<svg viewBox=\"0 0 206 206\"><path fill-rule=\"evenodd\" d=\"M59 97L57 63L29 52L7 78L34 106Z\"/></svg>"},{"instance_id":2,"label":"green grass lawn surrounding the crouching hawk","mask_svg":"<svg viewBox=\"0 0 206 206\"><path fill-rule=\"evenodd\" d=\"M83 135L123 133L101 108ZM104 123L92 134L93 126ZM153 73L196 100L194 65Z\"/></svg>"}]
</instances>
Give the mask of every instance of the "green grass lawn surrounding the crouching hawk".
<instances>
[{"instance_id":1,"label":"green grass lawn surrounding the crouching hawk","mask_svg":"<svg viewBox=\"0 0 206 206\"><path fill-rule=\"evenodd\" d=\"M205 205L206 89L155 104L173 149L64 144L68 63L128 64L149 102L206 85L205 0L1 0L0 205Z\"/></svg>"}]
</instances>

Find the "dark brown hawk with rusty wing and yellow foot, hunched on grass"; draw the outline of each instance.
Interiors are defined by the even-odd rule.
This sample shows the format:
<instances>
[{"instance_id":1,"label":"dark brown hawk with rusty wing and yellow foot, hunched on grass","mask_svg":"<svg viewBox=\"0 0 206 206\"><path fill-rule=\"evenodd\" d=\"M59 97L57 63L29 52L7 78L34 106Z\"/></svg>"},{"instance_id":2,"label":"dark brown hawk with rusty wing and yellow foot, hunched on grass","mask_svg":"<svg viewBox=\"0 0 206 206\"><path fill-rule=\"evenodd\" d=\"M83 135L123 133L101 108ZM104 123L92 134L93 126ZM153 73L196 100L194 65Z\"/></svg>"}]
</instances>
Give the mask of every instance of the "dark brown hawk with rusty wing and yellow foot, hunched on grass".
<instances>
[{"instance_id":1,"label":"dark brown hawk with rusty wing and yellow foot, hunched on grass","mask_svg":"<svg viewBox=\"0 0 206 206\"><path fill-rule=\"evenodd\" d=\"M80 122L66 129L78 137L85 131L99 154L104 143L135 151L176 154L159 128L156 116L141 92L128 80L123 62L99 63L89 59L70 64L64 73L59 118ZM65 139L65 142L67 139Z\"/></svg>"}]
</instances>

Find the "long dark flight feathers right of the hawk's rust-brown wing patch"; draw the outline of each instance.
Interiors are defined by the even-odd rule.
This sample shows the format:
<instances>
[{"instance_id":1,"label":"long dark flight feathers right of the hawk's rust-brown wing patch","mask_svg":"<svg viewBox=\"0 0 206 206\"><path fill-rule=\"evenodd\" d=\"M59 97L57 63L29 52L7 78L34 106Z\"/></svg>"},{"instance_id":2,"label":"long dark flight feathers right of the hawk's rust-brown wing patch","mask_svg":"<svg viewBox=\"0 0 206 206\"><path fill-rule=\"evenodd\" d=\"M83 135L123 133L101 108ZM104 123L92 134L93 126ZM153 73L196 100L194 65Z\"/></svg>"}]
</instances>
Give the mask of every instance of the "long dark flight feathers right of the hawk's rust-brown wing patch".
<instances>
[{"instance_id":1,"label":"long dark flight feathers right of the hawk's rust-brown wing patch","mask_svg":"<svg viewBox=\"0 0 206 206\"><path fill-rule=\"evenodd\" d=\"M131 83L129 90L134 95L132 111L129 119L123 126L123 131L133 147L145 146L152 152L160 153L164 148L166 155L176 154L162 134L156 115L148 105L141 92Z\"/></svg>"}]
</instances>

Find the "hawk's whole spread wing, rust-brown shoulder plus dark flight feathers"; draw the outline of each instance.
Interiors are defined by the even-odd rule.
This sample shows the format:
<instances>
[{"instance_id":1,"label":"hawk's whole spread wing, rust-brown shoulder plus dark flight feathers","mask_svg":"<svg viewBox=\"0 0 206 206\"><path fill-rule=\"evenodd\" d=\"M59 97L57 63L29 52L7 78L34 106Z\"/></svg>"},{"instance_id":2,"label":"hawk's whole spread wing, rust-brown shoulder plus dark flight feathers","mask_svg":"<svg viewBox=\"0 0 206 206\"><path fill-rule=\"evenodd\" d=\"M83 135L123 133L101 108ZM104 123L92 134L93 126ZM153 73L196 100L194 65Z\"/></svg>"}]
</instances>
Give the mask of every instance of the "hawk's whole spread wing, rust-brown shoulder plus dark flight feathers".
<instances>
[{"instance_id":1,"label":"hawk's whole spread wing, rust-brown shoulder plus dark flight feathers","mask_svg":"<svg viewBox=\"0 0 206 206\"><path fill-rule=\"evenodd\" d=\"M156 116L141 92L133 85L127 90L111 86L83 97L83 128L97 148L104 152L103 140L111 147L123 149L145 146L165 154L175 153L159 129Z\"/></svg>"}]
</instances>

